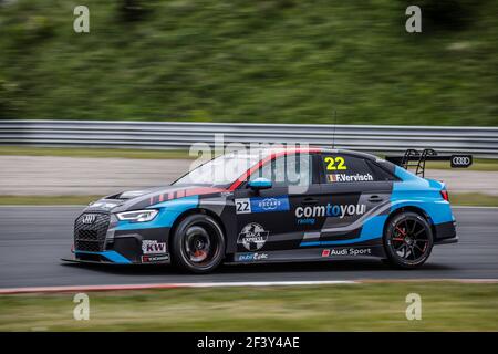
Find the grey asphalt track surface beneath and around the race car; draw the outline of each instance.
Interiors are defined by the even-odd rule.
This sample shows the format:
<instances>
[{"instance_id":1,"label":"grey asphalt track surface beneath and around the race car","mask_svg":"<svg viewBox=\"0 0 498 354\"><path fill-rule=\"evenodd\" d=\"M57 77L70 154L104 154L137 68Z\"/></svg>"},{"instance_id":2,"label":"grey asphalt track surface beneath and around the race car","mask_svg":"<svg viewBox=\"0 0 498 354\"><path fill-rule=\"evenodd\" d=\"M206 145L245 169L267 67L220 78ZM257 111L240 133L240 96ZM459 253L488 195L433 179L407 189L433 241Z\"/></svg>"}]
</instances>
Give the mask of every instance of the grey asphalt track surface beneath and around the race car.
<instances>
[{"instance_id":1,"label":"grey asphalt track surface beneath and around the race car","mask_svg":"<svg viewBox=\"0 0 498 354\"><path fill-rule=\"evenodd\" d=\"M455 208L460 242L437 246L417 270L377 260L222 266L207 275L170 266L64 263L73 220L82 207L0 207L0 288L183 282L323 281L376 279L498 279L498 208Z\"/></svg>"}]
</instances>

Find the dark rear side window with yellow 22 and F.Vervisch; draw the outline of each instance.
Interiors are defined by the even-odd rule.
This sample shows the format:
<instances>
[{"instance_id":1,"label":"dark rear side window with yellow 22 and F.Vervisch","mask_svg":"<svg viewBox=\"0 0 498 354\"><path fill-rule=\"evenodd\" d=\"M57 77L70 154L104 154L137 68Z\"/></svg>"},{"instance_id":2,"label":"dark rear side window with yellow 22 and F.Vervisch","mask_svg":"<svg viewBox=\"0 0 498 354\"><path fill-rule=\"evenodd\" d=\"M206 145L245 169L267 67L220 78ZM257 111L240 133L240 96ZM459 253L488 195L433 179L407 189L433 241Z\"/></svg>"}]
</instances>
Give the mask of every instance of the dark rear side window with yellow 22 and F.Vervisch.
<instances>
[{"instance_id":1,"label":"dark rear side window with yellow 22 and F.Vervisch","mask_svg":"<svg viewBox=\"0 0 498 354\"><path fill-rule=\"evenodd\" d=\"M360 157L323 154L322 166L328 184L377 180L367 162Z\"/></svg>"}]
</instances>

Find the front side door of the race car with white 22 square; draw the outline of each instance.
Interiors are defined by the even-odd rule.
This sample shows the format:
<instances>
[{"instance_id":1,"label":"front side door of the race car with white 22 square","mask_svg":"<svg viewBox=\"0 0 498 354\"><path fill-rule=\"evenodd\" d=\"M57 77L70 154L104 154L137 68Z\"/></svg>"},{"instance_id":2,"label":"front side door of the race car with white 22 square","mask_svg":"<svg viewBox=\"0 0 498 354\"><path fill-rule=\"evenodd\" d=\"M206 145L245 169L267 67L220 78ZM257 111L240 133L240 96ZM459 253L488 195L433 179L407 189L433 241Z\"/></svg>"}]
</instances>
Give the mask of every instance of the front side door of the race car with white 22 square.
<instances>
[{"instance_id":1,"label":"front side door of the race car with white 22 square","mask_svg":"<svg viewBox=\"0 0 498 354\"><path fill-rule=\"evenodd\" d=\"M277 157L249 177L268 178L271 188L255 191L243 184L235 191L238 252L258 251L259 257L268 257L264 251L290 250L315 228L311 220L295 217L298 208L318 202L320 196L314 158L309 154ZM251 260L253 256L246 257Z\"/></svg>"}]
</instances>

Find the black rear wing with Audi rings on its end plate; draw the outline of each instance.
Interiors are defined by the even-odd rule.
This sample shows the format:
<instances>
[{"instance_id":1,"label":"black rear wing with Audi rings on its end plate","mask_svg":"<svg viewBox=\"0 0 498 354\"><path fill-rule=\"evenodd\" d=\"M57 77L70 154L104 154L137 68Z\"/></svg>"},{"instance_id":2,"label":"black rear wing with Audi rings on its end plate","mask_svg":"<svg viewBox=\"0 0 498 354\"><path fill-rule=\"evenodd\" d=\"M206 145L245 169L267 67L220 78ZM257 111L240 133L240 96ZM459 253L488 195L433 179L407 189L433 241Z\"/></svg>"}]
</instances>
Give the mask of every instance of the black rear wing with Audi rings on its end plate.
<instances>
[{"instance_id":1,"label":"black rear wing with Audi rings on its end plate","mask_svg":"<svg viewBox=\"0 0 498 354\"><path fill-rule=\"evenodd\" d=\"M404 155L386 156L385 159L405 169L416 167L415 174L422 177L425 176L425 162L450 162L453 168L467 168L473 164L473 155L438 155L432 148L425 148L422 153L408 148Z\"/></svg>"}]
</instances>

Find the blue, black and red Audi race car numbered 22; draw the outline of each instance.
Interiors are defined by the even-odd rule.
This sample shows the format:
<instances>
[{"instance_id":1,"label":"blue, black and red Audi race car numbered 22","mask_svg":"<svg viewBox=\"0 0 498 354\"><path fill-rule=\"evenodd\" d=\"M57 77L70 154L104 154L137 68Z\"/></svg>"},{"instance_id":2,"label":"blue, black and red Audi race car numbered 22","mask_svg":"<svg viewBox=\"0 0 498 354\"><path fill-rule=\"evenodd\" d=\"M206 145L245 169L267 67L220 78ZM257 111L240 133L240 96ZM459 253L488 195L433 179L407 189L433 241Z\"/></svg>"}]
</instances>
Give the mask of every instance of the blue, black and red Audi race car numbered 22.
<instances>
[{"instance_id":1,"label":"blue, black and red Audi race car numbered 22","mask_svg":"<svg viewBox=\"0 0 498 354\"><path fill-rule=\"evenodd\" d=\"M66 260L194 273L222 262L360 258L417 268L433 246L458 241L448 191L423 178L425 160L467 167L471 156L408 150L386 159L322 147L231 152L169 186L90 204ZM406 169L413 160L416 174Z\"/></svg>"}]
</instances>

